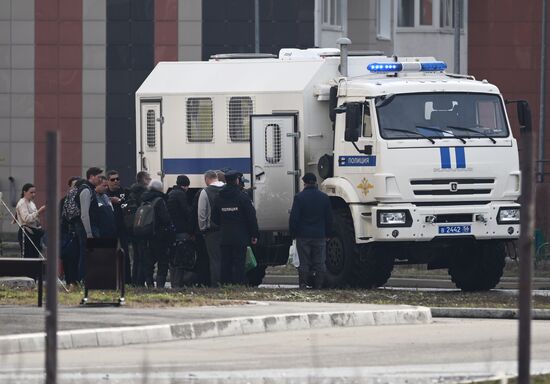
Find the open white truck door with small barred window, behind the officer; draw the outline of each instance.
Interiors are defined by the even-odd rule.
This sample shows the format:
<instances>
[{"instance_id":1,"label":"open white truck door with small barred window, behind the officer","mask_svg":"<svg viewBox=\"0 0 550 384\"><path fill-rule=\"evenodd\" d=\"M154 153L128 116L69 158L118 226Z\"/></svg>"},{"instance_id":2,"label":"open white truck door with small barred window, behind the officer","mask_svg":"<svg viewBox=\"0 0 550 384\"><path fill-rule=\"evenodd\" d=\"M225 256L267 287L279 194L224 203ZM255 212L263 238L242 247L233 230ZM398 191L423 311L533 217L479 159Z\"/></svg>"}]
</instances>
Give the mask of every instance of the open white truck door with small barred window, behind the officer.
<instances>
[{"instance_id":1,"label":"open white truck door with small barred window, behind the officer","mask_svg":"<svg viewBox=\"0 0 550 384\"><path fill-rule=\"evenodd\" d=\"M251 185L260 230L286 231L298 191L296 115L250 116Z\"/></svg>"}]
</instances>

